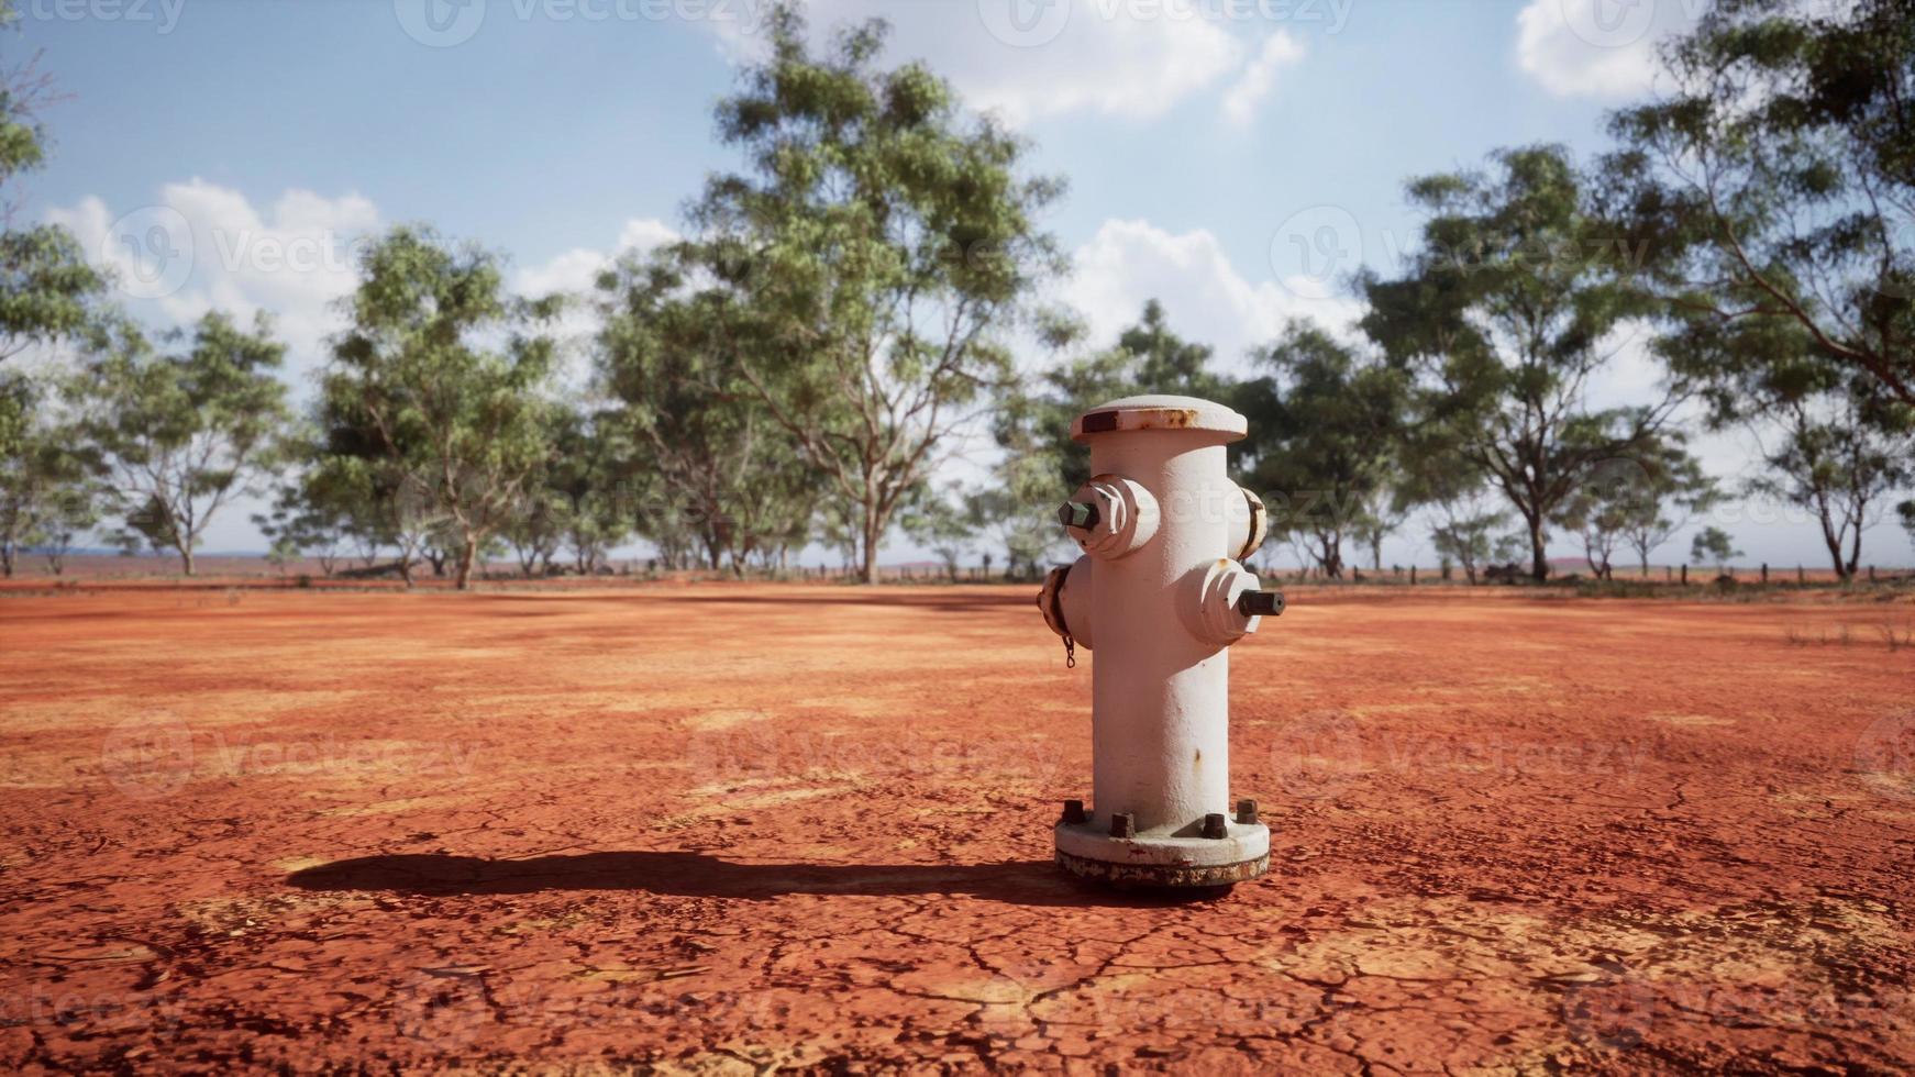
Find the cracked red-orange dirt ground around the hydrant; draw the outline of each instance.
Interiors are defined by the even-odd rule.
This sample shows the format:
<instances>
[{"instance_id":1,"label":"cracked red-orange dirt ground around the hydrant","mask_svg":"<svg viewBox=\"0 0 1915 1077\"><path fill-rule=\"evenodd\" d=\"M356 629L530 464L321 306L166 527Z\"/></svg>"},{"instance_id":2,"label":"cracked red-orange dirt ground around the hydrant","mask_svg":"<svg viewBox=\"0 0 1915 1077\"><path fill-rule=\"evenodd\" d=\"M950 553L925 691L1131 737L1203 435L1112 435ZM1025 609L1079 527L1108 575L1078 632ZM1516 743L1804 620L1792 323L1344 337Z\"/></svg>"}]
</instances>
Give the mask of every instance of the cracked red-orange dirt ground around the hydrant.
<instances>
[{"instance_id":1,"label":"cracked red-orange dirt ground around the hydrant","mask_svg":"<svg viewBox=\"0 0 1915 1077\"><path fill-rule=\"evenodd\" d=\"M0 1067L1915 1067L1905 599L1291 599L1197 903L1028 587L0 599Z\"/></svg>"}]
</instances>

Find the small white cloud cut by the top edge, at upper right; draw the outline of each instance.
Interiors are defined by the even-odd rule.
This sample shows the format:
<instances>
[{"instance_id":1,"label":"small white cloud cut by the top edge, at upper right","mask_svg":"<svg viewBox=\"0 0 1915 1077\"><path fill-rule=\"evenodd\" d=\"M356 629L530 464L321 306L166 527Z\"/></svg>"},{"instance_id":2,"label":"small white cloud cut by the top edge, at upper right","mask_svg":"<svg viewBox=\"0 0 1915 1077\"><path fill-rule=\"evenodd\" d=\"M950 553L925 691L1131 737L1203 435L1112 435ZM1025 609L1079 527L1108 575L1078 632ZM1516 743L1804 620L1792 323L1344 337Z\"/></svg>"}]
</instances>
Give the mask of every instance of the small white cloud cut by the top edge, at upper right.
<instances>
[{"instance_id":1,"label":"small white cloud cut by the top edge, at upper right","mask_svg":"<svg viewBox=\"0 0 1915 1077\"><path fill-rule=\"evenodd\" d=\"M1530 0L1517 11L1517 65L1559 98L1630 98L1656 84L1656 46L1695 25L1704 0Z\"/></svg>"}]
</instances>

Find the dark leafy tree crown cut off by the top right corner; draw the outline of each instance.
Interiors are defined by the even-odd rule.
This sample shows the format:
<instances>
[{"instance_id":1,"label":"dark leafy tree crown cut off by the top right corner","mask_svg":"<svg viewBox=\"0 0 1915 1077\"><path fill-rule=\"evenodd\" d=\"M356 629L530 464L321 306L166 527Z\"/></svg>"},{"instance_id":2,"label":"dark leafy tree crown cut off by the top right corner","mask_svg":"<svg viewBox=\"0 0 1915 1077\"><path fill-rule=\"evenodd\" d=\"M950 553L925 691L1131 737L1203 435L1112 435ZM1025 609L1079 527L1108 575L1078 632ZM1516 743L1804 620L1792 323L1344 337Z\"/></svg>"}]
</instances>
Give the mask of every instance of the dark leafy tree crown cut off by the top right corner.
<instances>
[{"instance_id":1,"label":"dark leafy tree crown cut off by the top right corner","mask_svg":"<svg viewBox=\"0 0 1915 1077\"><path fill-rule=\"evenodd\" d=\"M1915 407L1915 8L1718 0L1664 67L1670 92L1611 117L1645 279L1724 333L1785 321Z\"/></svg>"}]
</instances>

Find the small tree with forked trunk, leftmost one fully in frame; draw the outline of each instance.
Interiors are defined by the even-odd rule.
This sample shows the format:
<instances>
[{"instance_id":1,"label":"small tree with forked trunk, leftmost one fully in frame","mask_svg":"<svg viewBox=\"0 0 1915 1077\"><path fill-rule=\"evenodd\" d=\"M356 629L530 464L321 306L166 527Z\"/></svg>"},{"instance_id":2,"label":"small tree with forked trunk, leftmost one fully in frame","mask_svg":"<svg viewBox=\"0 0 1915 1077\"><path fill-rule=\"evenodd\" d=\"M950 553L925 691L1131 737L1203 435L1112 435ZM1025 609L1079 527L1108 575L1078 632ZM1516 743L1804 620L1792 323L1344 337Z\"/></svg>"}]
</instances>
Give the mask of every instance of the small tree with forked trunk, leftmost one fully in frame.
<instances>
[{"instance_id":1,"label":"small tree with forked trunk, leftmost one fully in frame","mask_svg":"<svg viewBox=\"0 0 1915 1077\"><path fill-rule=\"evenodd\" d=\"M264 314L241 329L218 312L165 344L121 321L86 358L73 402L123 520L117 541L170 549L192 576L218 511L259 494L285 459L285 344Z\"/></svg>"}]
</instances>

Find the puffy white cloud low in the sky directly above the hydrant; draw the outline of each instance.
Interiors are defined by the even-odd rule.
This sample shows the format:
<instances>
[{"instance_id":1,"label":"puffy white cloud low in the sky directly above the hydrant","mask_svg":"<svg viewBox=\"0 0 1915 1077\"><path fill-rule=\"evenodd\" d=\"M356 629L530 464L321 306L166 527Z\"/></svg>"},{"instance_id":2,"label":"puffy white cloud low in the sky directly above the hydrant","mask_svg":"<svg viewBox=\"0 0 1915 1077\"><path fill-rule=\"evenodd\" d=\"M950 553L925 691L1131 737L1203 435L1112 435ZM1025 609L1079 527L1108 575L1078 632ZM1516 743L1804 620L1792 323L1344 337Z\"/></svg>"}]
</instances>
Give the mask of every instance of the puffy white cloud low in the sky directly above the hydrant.
<instances>
[{"instance_id":1,"label":"puffy white cloud low in the sky directly above the hydrant","mask_svg":"<svg viewBox=\"0 0 1915 1077\"><path fill-rule=\"evenodd\" d=\"M1157 298L1180 335L1216 348L1222 371L1247 373L1247 352L1293 318L1348 333L1358 316L1350 298L1306 298L1308 289L1247 279L1208 230L1172 235L1145 220L1107 220L1072 262L1061 298L1084 316L1095 344L1111 342Z\"/></svg>"}]
</instances>

